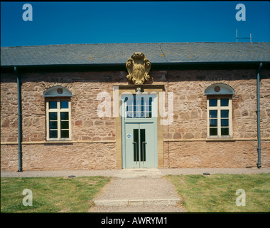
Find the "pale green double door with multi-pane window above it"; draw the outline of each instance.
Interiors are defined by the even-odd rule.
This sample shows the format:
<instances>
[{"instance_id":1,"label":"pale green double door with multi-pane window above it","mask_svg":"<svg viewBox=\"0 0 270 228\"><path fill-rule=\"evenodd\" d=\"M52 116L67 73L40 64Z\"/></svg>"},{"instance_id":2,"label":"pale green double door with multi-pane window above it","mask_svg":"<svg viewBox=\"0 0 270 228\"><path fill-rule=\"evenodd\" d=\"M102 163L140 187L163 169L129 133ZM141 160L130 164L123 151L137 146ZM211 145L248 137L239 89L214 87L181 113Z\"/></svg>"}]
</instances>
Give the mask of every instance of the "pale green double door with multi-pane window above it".
<instances>
[{"instance_id":1,"label":"pale green double door with multi-pane window above it","mask_svg":"<svg viewBox=\"0 0 270 228\"><path fill-rule=\"evenodd\" d=\"M158 167L156 95L122 99L122 167Z\"/></svg>"}]
</instances>

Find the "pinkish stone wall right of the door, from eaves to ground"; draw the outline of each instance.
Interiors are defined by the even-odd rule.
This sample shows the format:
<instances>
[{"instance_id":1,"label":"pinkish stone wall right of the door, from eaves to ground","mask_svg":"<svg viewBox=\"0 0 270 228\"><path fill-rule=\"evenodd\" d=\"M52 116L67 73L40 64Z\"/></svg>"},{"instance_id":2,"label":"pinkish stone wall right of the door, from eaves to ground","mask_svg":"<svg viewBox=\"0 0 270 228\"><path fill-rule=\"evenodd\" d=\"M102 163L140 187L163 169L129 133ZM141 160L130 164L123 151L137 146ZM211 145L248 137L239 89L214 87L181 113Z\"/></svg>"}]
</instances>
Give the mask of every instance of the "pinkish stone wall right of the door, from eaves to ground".
<instances>
[{"instance_id":1,"label":"pinkish stone wall right of the door, from eaves to ground","mask_svg":"<svg viewBox=\"0 0 270 228\"><path fill-rule=\"evenodd\" d=\"M256 167L256 71L171 71L174 121L164 128L165 167ZM261 71L261 164L270 166L270 74ZM207 96L215 83L234 89L232 140L207 140Z\"/></svg>"}]
</instances>

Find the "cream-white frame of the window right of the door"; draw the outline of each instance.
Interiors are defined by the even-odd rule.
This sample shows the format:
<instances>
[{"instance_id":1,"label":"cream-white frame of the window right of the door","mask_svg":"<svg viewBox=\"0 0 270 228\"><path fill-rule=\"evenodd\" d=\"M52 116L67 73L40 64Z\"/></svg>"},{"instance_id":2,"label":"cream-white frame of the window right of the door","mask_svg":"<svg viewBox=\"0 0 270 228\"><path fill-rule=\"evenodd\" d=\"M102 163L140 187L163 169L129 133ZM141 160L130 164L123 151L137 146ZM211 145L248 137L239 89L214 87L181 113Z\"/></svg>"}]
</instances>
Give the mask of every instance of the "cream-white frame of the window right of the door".
<instances>
[{"instance_id":1,"label":"cream-white frame of the window right of the door","mask_svg":"<svg viewBox=\"0 0 270 228\"><path fill-rule=\"evenodd\" d=\"M217 99L217 106L210 107L210 99ZM228 106L220 106L220 99L229 99ZM210 110L217 110L217 135L210 135ZM221 110L229 110L229 135L221 135ZM232 138L232 96L207 96L207 138Z\"/></svg>"}]
</instances>

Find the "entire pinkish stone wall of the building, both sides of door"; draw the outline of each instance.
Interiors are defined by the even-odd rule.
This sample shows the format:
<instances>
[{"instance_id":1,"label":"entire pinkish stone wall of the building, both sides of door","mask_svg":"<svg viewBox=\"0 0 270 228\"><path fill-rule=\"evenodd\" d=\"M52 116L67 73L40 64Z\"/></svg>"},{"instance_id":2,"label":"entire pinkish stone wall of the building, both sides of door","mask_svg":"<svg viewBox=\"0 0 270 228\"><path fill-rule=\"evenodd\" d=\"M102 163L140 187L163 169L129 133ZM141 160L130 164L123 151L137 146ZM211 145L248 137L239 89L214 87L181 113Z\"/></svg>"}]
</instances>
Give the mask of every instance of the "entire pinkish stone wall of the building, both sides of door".
<instances>
[{"instance_id":1,"label":"entire pinkish stone wall of the building, both sides of door","mask_svg":"<svg viewBox=\"0 0 270 228\"><path fill-rule=\"evenodd\" d=\"M87 170L116 167L113 117L99 118L97 94L131 85L125 71L22 73L23 170ZM173 123L163 126L165 167L255 167L257 163L256 70L152 71L152 85L173 92ZM169 80L167 80L169 78ZM261 71L261 163L270 166L270 73ZM214 83L234 89L233 139L207 140L204 90ZM53 86L68 88L72 142L45 141L45 98ZM113 103L111 103L111 106ZM167 107L167 100L166 100ZM112 114L112 112L111 112ZM18 168L17 85L1 74L1 170Z\"/></svg>"}]
</instances>

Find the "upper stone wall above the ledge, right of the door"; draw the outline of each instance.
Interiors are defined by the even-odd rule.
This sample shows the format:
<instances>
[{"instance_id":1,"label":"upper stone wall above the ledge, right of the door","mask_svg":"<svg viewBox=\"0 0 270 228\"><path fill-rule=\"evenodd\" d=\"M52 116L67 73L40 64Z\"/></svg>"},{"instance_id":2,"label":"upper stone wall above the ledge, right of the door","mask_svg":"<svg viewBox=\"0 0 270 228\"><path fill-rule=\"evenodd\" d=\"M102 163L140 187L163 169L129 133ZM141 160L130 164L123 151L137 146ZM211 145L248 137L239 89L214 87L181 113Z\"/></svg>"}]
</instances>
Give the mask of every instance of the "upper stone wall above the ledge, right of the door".
<instances>
[{"instance_id":1,"label":"upper stone wall above the ledge, right of the door","mask_svg":"<svg viewBox=\"0 0 270 228\"><path fill-rule=\"evenodd\" d=\"M256 71L171 71L168 90L174 93L174 121L169 125L168 139L207 137L205 89L225 83L234 89L232 95L233 138L257 138ZM261 72L261 138L270 137L270 76ZM200 79L203 79L201 81ZM167 133L165 133L167 134Z\"/></svg>"}]
</instances>

